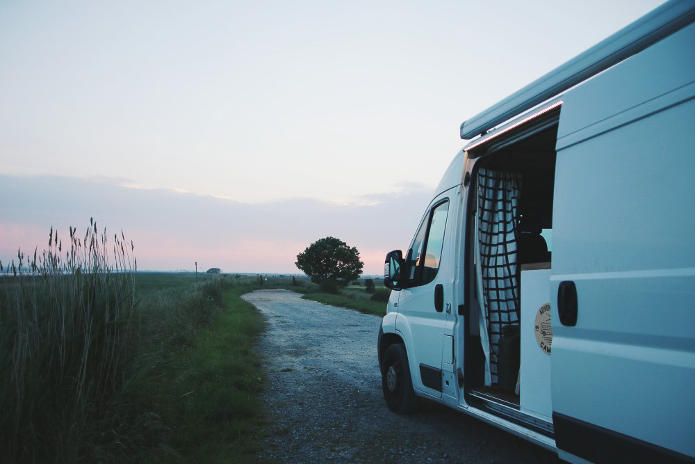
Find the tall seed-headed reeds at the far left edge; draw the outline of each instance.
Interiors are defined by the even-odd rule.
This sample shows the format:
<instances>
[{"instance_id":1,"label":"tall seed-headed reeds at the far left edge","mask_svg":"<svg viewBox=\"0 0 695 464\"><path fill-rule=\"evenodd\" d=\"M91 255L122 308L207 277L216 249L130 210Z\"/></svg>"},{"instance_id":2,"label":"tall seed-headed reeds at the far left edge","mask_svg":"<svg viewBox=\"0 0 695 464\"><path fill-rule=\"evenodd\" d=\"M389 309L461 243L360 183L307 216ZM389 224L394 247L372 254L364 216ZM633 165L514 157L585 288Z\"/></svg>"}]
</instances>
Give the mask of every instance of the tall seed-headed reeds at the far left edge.
<instances>
[{"instance_id":1,"label":"tall seed-headed reeds at the far left edge","mask_svg":"<svg viewBox=\"0 0 695 464\"><path fill-rule=\"evenodd\" d=\"M65 248L65 251L63 251ZM0 263L0 461L76 462L117 440L133 367L133 244L90 220Z\"/></svg>"}]
</instances>

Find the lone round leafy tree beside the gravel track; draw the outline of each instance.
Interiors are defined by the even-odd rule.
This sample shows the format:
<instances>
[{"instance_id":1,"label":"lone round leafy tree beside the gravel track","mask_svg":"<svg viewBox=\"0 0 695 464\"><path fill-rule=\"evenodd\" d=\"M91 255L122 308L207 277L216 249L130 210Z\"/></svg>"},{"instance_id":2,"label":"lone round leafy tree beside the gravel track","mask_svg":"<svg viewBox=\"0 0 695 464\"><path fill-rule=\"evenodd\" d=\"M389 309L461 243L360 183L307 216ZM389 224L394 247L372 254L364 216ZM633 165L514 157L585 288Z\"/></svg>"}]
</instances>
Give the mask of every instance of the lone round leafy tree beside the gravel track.
<instances>
[{"instance_id":1,"label":"lone round leafy tree beside the gravel track","mask_svg":"<svg viewBox=\"0 0 695 464\"><path fill-rule=\"evenodd\" d=\"M359 277L364 263L359 251L335 237L326 237L311 243L304 253L297 255L297 268L311 277L325 291L336 291Z\"/></svg>"}]
</instances>

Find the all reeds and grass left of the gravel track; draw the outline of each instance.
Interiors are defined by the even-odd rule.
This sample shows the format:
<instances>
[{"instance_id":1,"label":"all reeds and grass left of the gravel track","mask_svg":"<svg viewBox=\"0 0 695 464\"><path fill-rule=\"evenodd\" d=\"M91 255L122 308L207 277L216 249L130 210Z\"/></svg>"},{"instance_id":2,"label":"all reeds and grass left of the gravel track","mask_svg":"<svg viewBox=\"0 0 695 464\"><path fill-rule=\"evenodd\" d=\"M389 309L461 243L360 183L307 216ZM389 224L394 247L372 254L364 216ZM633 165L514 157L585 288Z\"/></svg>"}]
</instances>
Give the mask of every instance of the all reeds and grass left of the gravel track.
<instances>
[{"instance_id":1,"label":"all reeds and grass left of the gravel track","mask_svg":"<svg viewBox=\"0 0 695 464\"><path fill-rule=\"evenodd\" d=\"M259 433L254 277L136 273L96 223L0 264L0 462L245 462Z\"/></svg>"}]
</instances>

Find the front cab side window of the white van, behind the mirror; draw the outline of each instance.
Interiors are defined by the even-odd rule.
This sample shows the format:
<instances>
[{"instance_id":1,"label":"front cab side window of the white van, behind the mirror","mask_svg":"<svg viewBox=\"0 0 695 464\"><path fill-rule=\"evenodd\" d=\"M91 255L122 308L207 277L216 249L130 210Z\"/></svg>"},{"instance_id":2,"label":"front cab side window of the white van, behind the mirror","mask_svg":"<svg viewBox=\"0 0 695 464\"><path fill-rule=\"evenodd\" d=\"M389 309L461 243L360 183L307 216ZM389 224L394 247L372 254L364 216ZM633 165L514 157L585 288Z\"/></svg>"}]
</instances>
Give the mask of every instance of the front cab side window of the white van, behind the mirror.
<instances>
[{"instance_id":1,"label":"front cab side window of the white van, behind the mirror","mask_svg":"<svg viewBox=\"0 0 695 464\"><path fill-rule=\"evenodd\" d=\"M434 280L441 261L448 211L449 202L439 203L420 225L407 256L409 287L425 285Z\"/></svg>"}]
</instances>

